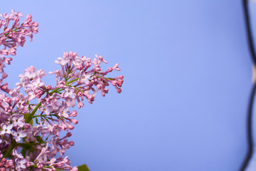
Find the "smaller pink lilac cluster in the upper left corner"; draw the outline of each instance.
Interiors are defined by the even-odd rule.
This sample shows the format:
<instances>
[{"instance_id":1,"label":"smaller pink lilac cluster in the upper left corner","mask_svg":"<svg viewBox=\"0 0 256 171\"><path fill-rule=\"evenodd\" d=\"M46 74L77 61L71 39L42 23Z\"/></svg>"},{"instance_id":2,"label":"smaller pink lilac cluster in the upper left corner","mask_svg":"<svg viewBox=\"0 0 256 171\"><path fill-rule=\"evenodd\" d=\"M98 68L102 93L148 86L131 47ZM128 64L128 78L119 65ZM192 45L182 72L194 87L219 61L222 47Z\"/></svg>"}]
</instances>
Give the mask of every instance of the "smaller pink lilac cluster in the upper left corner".
<instances>
[{"instance_id":1,"label":"smaller pink lilac cluster in the upper left corner","mask_svg":"<svg viewBox=\"0 0 256 171\"><path fill-rule=\"evenodd\" d=\"M26 16L25 21L20 24L20 18L23 16L21 12L15 12L11 10L12 14L0 14L0 85L3 83L4 78L8 75L4 73L5 64L10 65L12 58L6 58L5 56L16 55L16 48L18 46L23 46L26 41L26 36L32 41L33 33L38 33L38 23L32 21L31 14ZM9 25L11 27L9 28ZM6 88L6 84L1 86L3 90Z\"/></svg>"}]
</instances>

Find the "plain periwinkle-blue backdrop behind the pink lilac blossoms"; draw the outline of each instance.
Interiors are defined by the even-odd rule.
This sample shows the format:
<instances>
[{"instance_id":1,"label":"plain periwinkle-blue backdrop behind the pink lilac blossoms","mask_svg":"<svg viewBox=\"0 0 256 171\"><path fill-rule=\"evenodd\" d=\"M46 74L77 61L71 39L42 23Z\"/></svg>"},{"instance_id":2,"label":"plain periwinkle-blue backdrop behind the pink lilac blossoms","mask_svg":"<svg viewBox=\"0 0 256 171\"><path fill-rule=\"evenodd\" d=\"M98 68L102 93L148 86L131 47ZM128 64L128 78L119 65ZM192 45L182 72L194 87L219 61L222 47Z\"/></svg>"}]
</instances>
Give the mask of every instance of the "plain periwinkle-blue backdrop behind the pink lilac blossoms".
<instances>
[{"instance_id":1,"label":"plain periwinkle-blue backdrop behind the pink lilac blossoms","mask_svg":"<svg viewBox=\"0 0 256 171\"><path fill-rule=\"evenodd\" d=\"M119 63L123 92L85 103L72 165L92 171L238 170L247 151L250 53L240 0L2 0L39 23L18 48L11 87L28 66L54 71L63 51ZM106 66L107 68L107 66ZM55 84L54 76L46 83Z\"/></svg>"}]
</instances>

